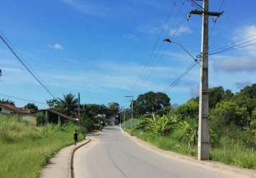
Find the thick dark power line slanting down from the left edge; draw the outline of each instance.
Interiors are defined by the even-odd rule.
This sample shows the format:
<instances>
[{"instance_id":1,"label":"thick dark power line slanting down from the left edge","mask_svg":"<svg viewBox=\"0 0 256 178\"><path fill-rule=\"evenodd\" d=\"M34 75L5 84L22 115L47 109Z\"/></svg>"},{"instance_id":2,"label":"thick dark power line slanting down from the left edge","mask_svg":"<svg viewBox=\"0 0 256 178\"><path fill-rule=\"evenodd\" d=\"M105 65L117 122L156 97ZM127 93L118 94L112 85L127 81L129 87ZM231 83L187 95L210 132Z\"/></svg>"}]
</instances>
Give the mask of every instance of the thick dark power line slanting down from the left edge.
<instances>
[{"instance_id":1,"label":"thick dark power line slanting down from the left edge","mask_svg":"<svg viewBox=\"0 0 256 178\"><path fill-rule=\"evenodd\" d=\"M19 60L19 62L22 64L22 66L24 66L24 68L26 68L26 70L28 70L28 72L33 76L34 79L36 79L36 81L49 93L49 95L51 95L52 98L56 98L51 91L46 87L46 85L44 85L41 80L39 80L39 78L36 77L36 75L32 72L31 69L29 69L28 66L26 66L26 64L22 61L22 59L18 56L18 54L14 51L13 48L11 48L11 45L8 43L8 39L5 39L4 36L2 36L0 34L0 38L1 41L4 42L4 44L7 46L7 48L9 48L9 50L11 51L11 53L14 54L14 56Z\"/></svg>"}]
</instances>

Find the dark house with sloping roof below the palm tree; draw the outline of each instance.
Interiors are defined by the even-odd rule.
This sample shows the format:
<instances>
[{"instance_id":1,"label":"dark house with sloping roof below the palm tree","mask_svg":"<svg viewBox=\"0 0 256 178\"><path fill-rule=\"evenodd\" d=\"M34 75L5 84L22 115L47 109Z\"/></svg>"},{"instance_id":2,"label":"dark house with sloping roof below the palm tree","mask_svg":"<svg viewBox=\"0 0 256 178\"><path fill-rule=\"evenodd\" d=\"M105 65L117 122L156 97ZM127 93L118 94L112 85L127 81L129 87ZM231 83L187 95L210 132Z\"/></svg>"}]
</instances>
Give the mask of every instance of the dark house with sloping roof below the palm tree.
<instances>
[{"instance_id":1,"label":"dark house with sloping roof below the palm tree","mask_svg":"<svg viewBox=\"0 0 256 178\"><path fill-rule=\"evenodd\" d=\"M62 114L59 111L54 109L44 109L44 110L37 110L35 112L36 115L41 115L44 117L45 122L63 124L64 122L77 122L76 118L69 117L67 115Z\"/></svg>"}]
</instances>

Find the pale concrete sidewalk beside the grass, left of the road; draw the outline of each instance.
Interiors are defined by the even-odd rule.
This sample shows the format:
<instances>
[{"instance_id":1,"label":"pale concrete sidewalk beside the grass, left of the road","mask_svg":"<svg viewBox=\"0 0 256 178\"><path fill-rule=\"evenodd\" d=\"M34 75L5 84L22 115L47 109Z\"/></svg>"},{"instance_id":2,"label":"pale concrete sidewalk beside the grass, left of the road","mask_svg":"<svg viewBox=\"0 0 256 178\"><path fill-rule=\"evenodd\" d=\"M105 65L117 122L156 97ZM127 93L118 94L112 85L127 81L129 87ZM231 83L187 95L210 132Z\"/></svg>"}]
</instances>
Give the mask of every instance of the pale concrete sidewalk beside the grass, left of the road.
<instances>
[{"instance_id":1,"label":"pale concrete sidewalk beside the grass, left of the road","mask_svg":"<svg viewBox=\"0 0 256 178\"><path fill-rule=\"evenodd\" d=\"M50 159L40 172L40 178L69 178L71 175L71 157L75 147L83 145L89 142L89 140L83 140L79 142L77 146L71 145L61 149L57 155Z\"/></svg>"}]
</instances>

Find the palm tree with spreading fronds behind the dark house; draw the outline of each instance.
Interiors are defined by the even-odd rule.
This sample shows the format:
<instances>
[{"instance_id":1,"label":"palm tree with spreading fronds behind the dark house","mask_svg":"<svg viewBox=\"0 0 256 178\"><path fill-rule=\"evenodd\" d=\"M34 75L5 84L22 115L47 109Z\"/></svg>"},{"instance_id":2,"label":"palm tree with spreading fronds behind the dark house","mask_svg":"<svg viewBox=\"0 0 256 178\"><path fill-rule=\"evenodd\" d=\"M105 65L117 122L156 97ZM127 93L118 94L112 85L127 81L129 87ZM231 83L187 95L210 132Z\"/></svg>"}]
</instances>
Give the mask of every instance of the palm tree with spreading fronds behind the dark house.
<instances>
[{"instance_id":1,"label":"palm tree with spreading fronds behind the dark house","mask_svg":"<svg viewBox=\"0 0 256 178\"><path fill-rule=\"evenodd\" d=\"M78 108L78 99L75 97L72 93L68 93L67 95L63 95L63 99L58 98L59 110L65 115L75 116L75 110Z\"/></svg>"}]
</instances>

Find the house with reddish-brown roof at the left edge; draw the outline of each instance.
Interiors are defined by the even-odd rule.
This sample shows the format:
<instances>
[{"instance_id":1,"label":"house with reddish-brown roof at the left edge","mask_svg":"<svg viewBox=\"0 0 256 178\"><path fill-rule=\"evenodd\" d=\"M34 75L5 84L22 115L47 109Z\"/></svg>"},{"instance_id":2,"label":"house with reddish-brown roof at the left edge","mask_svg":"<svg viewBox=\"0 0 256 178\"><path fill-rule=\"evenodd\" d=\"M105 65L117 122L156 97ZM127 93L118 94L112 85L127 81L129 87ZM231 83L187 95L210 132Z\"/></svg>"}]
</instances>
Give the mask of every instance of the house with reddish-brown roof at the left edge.
<instances>
[{"instance_id":1,"label":"house with reddish-brown roof at the left edge","mask_svg":"<svg viewBox=\"0 0 256 178\"><path fill-rule=\"evenodd\" d=\"M0 103L0 114L6 115L18 115L24 120L31 120L34 116L30 110L25 110L24 108L17 108L15 105L10 105L6 103Z\"/></svg>"}]
</instances>

